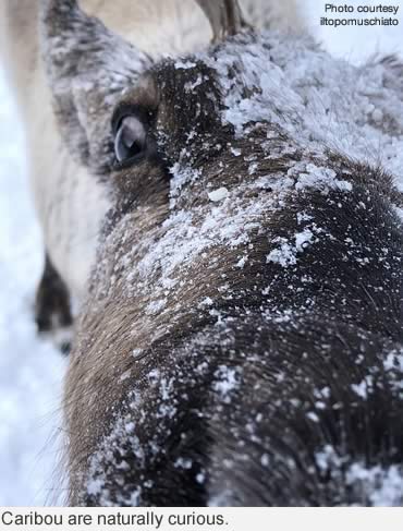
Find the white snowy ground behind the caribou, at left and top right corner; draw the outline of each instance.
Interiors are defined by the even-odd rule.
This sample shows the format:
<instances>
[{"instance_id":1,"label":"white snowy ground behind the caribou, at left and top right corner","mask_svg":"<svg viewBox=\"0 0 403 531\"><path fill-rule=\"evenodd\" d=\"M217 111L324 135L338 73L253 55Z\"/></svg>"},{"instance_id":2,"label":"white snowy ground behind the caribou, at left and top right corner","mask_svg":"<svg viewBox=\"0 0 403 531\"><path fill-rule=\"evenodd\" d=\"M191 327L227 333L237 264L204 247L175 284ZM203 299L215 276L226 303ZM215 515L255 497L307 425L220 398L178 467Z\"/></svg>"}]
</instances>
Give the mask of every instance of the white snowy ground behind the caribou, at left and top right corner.
<instances>
[{"instance_id":1,"label":"white snowy ground behind the caribou, at left and top right corner","mask_svg":"<svg viewBox=\"0 0 403 531\"><path fill-rule=\"evenodd\" d=\"M319 26L325 2L301 2L314 32L338 56L357 62L374 51L403 52L402 13L396 28L333 29ZM393 4L403 11L403 1ZM0 505L20 506L58 497L51 485L65 365L36 337L32 318L42 249L22 153L22 131L0 72Z\"/></svg>"}]
</instances>

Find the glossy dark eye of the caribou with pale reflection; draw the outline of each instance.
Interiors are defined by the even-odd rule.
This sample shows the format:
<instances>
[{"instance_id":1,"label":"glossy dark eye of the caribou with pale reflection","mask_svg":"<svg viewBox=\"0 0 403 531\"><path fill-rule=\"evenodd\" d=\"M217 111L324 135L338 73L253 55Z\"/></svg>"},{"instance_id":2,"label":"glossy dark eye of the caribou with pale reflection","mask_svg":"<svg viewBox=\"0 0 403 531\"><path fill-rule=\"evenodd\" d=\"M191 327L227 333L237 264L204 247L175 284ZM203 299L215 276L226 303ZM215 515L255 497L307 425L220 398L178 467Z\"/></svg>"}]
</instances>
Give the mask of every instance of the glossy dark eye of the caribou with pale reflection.
<instances>
[{"instance_id":1,"label":"glossy dark eye of the caribou with pale reflection","mask_svg":"<svg viewBox=\"0 0 403 531\"><path fill-rule=\"evenodd\" d=\"M144 154L147 133L138 118L123 118L114 137L114 155L118 162L127 162Z\"/></svg>"}]
</instances>

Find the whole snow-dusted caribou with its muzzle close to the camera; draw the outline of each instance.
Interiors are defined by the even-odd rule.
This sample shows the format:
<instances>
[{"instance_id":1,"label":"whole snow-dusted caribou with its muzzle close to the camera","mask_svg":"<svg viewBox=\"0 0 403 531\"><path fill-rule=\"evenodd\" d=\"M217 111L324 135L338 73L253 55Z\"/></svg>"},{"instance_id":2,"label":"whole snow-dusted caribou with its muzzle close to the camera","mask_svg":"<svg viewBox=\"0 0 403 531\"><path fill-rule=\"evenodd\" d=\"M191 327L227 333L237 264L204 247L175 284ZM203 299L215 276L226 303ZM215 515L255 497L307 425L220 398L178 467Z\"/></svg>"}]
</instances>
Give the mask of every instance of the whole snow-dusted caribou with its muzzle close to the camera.
<instances>
[{"instance_id":1,"label":"whole snow-dusted caribou with its muzzle close to the camera","mask_svg":"<svg viewBox=\"0 0 403 531\"><path fill-rule=\"evenodd\" d=\"M39 325L78 300L66 503L401 505L403 64L197 3L5 2Z\"/></svg>"}]
</instances>

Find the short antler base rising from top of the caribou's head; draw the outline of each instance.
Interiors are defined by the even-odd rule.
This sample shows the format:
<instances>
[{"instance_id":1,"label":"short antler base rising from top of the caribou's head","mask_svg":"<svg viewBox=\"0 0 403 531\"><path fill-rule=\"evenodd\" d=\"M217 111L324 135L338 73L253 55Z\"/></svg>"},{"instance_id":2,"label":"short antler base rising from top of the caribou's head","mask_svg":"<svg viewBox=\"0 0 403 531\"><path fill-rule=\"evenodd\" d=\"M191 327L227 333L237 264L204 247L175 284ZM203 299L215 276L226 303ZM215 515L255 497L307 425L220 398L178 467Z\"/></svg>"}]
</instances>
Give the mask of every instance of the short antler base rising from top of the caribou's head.
<instances>
[{"instance_id":1,"label":"short antler base rising from top of the caribou's head","mask_svg":"<svg viewBox=\"0 0 403 531\"><path fill-rule=\"evenodd\" d=\"M213 35L213 43L236 35L248 24L243 17L237 0L196 0L207 15Z\"/></svg>"}]
</instances>

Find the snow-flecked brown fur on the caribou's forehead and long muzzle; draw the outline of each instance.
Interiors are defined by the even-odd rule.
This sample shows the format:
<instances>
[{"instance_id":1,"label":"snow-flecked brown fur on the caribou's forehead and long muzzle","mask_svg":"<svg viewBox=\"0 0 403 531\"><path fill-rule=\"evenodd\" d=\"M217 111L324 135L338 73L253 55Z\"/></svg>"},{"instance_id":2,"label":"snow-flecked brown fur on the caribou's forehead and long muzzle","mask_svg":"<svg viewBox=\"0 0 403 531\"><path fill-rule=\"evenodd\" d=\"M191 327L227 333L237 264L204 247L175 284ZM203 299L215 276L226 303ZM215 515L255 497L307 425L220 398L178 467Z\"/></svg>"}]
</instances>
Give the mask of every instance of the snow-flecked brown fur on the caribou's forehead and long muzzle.
<instances>
[{"instance_id":1,"label":"snow-flecked brown fur on the caribou's forehead and long muzzle","mask_svg":"<svg viewBox=\"0 0 403 531\"><path fill-rule=\"evenodd\" d=\"M237 57L228 46L212 57ZM117 108L149 117L159 156L112 172L66 388L70 502L375 504L402 460L400 195L388 173L330 150L339 185L282 194L276 183L315 153L270 123L239 138L220 122L217 73L190 64L152 69ZM178 190L167 168L180 159L198 177ZM209 183L231 197L229 241ZM312 245L270 260L305 230Z\"/></svg>"}]
</instances>

